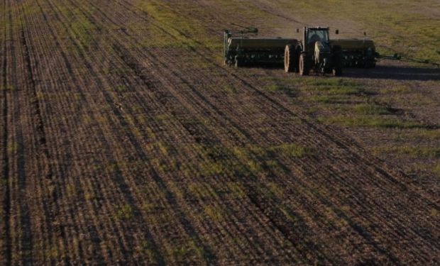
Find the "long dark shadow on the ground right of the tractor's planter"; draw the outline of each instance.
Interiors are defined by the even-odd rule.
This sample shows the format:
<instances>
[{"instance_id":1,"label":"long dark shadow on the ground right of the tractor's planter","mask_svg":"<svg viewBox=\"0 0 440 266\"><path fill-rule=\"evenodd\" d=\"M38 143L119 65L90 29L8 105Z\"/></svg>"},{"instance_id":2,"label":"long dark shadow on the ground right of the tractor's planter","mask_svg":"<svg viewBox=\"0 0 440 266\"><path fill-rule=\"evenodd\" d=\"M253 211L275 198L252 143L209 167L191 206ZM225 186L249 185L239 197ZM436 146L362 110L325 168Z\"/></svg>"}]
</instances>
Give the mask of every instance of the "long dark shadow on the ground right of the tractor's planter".
<instances>
[{"instance_id":1,"label":"long dark shadow on the ground right of the tractor's planter","mask_svg":"<svg viewBox=\"0 0 440 266\"><path fill-rule=\"evenodd\" d=\"M367 79L438 81L440 80L440 68L378 65L372 69L344 68L343 76Z\"/></svg>"}]
</instances>

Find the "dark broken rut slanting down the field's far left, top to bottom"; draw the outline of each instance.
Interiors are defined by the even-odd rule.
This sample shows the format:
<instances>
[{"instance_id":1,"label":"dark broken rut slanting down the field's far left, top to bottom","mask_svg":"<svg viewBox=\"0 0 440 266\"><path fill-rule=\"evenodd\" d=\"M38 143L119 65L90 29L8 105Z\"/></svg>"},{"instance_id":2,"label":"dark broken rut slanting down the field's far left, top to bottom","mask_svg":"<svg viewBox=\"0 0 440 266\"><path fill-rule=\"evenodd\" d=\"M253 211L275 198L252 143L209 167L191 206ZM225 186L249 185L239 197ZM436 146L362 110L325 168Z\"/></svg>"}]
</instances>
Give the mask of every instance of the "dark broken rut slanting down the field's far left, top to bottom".
<instances>
[{"instance_id":1,"label":"dark broken rut slanting down the field's far left, top to bottom","mask_svg":"<svg viewBox=\"0 0 440 266\"><path fill-rule=\"evenodd\" d=\"M36 38L38 35L45 36L47 31L45 31L44 28L41 28L41 26L45 26L44 23L38 23L38 18L40 18L38 13L31 13L30 16L27 16L26 10L35 9L35 6L31 6L31 4L34 4L34 2L23 3L21 13L26 15L22 16L22 23L26 23L26 31L42 31L42 33L36 35L26 35L22 25L20 40L21 45L24 48L24 65L27 70L28 87L31 89L30 98L33 100L31 101L31 104L33 105L34 113L31 115L33 115L32 121L34 126L36 125L35 132L37 133L36 137L38 138L37 149L40 151L43 150L40 155L43 155L42 161L46 164L43 168L44 178L38 181L40 182L40 186L42 186L40 191L44 192L39 201L43 204L43 213L45 213L45 218L48 219L45 221L45 226L49 226L42 230L43 235L45 233L48 233L49 235L47 249L50 251L45 251L44 253L44 256L49 254L49 257L45 257L44 260L53 261L53 257L51 256L53 256L53 253L56 252L59 256L59 261L63 261L65 264L67 264L72 259L72 255L70 255L71 249L69 249L69 243L67 242L70 235L63 226L60 226L60 223L66 224L65 218L67 216L65 213L65 208L60 201L60 197L62 196L62 187L64 186L63 184L60 184L60 182L63 182L64 179L53 178L56 172L53 168L55 166L55 164L53 165L55 156L52 156L50 153L51 147L48 145L48 129L51 129L50 120L47 121L47 125L44 123L43 107L41 106L39 99L40 96L43 95L43 92L37 89L37 86L40 86L40 84L37 85L35 82L35 80L40 77L38 75L41 73L38 72L40 69L35 62L40 61L40 63L43 62L43 65L48 65L46 62L50 57L46 56L47 54L45 53L45 49L50 46L48 45L46 39L43 39L42 42L41 39ZM34 28L32 28L31 25L34 25ZM38 26L40 26L40 28ZM32 52L30 45L33 48ZM40 49L43 49L43 51ZM43 57L39 57L40 55L43 55ZM37 74L35 74L35 72L37 72ZM43 88L43 86L40 86L40 89ZM52 137L52 132L49 133L50 137ZM53 153L56 154L56 150ZM55 162L57 161L55 160ZM68 204L65 206L68 206ZM55 230L53 230L52 226L55 227ZM56 235L50 233L51 231L56 231ZM58 235L59 238L57 238ZM62 244L60 245L60 243Z\"/></svg>"}]
</instances>

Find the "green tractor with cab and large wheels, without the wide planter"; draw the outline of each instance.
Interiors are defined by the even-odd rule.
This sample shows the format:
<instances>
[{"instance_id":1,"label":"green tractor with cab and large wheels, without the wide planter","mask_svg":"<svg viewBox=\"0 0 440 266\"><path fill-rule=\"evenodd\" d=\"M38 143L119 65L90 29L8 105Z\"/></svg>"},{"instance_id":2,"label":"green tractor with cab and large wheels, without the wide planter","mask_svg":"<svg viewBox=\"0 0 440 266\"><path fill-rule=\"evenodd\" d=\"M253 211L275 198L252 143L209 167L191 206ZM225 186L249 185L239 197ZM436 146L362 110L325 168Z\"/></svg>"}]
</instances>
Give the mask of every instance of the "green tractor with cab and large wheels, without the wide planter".
<instances>
[{"instance_id":1,"label":"green tractor with cab and large wheels, without the wide planter","mask_svg":"<svg viewBox=\"0 0 440 266\"><path fill-rule=\"evenodd\" d=\"M341 76L342 65L341 46L331 45L329 28L304 27L303 40L285 46L285 72L299 72L305 76L313 70L319 74Z\"/></svg>"}]
</instances>

